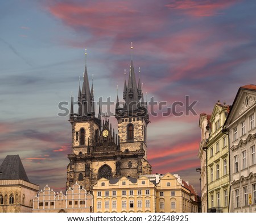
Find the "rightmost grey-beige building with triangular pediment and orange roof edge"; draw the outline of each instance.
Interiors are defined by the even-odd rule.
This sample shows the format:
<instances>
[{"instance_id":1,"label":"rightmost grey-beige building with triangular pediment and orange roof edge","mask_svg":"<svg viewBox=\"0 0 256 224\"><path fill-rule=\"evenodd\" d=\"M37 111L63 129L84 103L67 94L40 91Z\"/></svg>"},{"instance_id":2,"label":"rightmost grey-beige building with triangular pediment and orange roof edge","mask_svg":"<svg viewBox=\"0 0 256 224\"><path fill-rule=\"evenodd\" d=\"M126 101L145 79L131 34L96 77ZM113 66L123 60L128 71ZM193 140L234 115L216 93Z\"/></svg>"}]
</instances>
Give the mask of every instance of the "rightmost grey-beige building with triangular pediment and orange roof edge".
<instances>
[{"instance_id":1,"label":"rightmost grey-beige building with triangular pediment and orange roof edge","mask_svg":"<svg viewBox=\"0 0 256 224\"><path fill-rule=\"evenodd\" d=\"M224 128L229 132L230 212L256 212L256 85L241 86Z\"/></svg>"}]
</instances>

